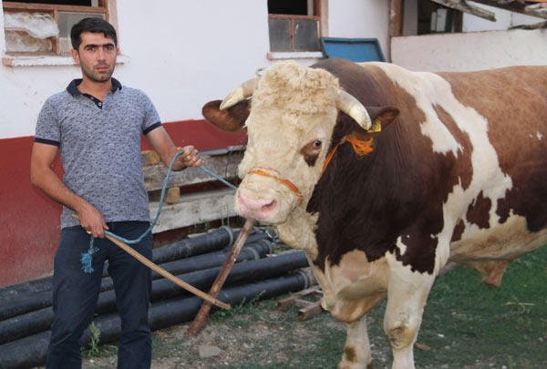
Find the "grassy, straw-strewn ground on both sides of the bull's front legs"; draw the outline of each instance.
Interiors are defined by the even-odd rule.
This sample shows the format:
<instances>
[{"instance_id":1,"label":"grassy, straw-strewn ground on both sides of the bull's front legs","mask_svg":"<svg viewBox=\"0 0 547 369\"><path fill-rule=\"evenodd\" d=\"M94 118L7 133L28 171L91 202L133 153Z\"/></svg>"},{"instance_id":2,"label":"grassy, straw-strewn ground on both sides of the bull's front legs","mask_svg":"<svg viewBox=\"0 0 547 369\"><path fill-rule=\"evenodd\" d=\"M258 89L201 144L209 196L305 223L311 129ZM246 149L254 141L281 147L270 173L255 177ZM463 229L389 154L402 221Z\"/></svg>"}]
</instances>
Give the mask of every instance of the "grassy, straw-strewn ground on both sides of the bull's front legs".
<instances>
[{"instance_id":1,"label":"grassy, straw-strewn ground on both sides of the bull's front legs","mask_svg":"<svg viewBox=\"0 0 547 369\"><path fill-rule=\"evenodd\" d=\"M210 317L209 333L198 337L176 327L156 332L153 356L174 358L172 367L335 368L346 341L344 324L328 313L299 321L294 306L276 310L276 301L284 297L219 310ZM367 316L377 369L391 365L382 329L385 305ZM201 359L197 347L202 343L220 347L223 354ZM479 273L464 267L439 277L418 343L428 347L414 350L418 368L547 368L547 247L513 261L497 289L488 288Z\"/></svg>"}]
</instances>

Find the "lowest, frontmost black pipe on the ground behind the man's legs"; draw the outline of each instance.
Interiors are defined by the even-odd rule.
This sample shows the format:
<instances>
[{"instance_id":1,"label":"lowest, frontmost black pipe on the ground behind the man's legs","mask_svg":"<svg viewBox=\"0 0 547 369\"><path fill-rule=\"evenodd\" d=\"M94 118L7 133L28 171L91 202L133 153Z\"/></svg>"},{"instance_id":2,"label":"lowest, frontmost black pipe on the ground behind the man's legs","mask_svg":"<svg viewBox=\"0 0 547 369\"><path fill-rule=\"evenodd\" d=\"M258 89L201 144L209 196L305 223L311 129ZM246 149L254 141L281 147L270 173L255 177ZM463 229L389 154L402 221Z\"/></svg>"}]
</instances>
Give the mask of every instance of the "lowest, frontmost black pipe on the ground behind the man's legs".
<instances>
[{"instance_id":1,"label":"lowest, frontmost black pipe on the ground behind the man's legs","mask_svg":"<svg viewBox=\"0 0 547 369\"><path fill-rule=\"evenodd\" d=\"M232 305L264 300L279 296L287 292L297 292L308 288L313 281L309 272L299 270L290 274L236 286L222 290L218 298ZM153 331L169 327L178 323L191 321L201 306L202 300L198 297L173 299L168 302L153 304L150 309L150 327ZM95 324L100 330L101 344L115 342L119 339L119 316L108 315L96 319ZM49 341L49 332L38 333L23 339L0 345L0 367L4 369L20 369L46 362L46 350ZM88 343L89 331L84 334L83 342Z\"/></svg>"}]
</instances>

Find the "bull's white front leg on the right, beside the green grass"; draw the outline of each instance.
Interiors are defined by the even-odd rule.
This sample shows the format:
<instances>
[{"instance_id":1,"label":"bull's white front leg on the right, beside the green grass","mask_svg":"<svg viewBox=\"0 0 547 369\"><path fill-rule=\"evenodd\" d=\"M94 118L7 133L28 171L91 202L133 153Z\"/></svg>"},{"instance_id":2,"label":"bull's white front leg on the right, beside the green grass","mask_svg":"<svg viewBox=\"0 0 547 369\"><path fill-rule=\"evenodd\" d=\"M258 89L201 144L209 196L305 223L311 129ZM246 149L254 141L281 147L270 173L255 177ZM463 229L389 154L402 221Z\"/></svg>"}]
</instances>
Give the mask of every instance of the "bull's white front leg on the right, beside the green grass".
<instances>
[{"instance_id":1,"label":"bull's white front leg on the right, beside the green grass","mask_svg":"<svg viewBox=\"0 0 547 369\"><path fill-rule=\"evenodd\" d=\"M412 272L392 254L387 256L387 262L389 280L384 332L391 344L392 368L414 368L414 343L435 276Z\"/></svg>"}]
</instances>

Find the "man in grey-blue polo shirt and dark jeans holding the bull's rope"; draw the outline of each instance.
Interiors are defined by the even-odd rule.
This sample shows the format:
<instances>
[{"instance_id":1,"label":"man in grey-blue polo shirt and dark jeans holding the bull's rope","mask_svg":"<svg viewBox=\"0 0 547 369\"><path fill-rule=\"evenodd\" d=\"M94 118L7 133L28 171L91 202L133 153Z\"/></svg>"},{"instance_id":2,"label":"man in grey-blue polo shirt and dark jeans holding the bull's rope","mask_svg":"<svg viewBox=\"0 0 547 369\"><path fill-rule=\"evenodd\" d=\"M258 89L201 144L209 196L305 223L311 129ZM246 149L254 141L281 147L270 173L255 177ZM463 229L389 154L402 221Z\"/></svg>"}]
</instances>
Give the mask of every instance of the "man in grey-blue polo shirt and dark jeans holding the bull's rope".
<instances>
[{"instance_id":1,"label":"man in grey-blue polo shirt and dark jeans holding the bull's rope","mask_svg":"<svg viewBox=\"0 0 547 369\"><path fill-rule=\"evenodd\" d=\"M150 226L140 135L165 164L178 149L150 99L111 77L119 52L114 27L86 18L72 27L70 36L82 78L46 100L31 158L32 183L63 205L46 368L81 367L78 340L92 321L106 260L121 318L118 367L150 368L150 270L104 238L104 231L133 240ZM201 165L196 149L183 150L174 170ZM52 169L57 152L65 169L62 181ZM82 271L80 262L89 249L88 233L97 248L90 273ZM151 235L131 247L151 258Z\"/></svg>"}]
</instances>

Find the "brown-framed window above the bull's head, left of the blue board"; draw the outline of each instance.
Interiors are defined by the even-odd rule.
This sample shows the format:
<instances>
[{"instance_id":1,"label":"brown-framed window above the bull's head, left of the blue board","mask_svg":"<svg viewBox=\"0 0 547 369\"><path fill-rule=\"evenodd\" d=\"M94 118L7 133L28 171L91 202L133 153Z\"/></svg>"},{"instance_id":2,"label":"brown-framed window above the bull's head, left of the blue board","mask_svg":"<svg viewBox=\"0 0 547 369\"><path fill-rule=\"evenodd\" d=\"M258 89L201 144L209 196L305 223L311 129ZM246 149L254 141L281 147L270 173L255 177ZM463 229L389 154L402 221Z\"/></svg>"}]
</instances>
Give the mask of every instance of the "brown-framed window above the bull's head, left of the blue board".
<instances>
[{"instance_id":1,"label":"brown-framed window above the bull's head, left of the blue board","mask_svg":"<svg viewBox=\"0 0 547 369\"><path fill-rule=\"evenodd\" d=\"M319 51L321 0L268 0L270 51Z\"/></svg>"}]
</instances>

